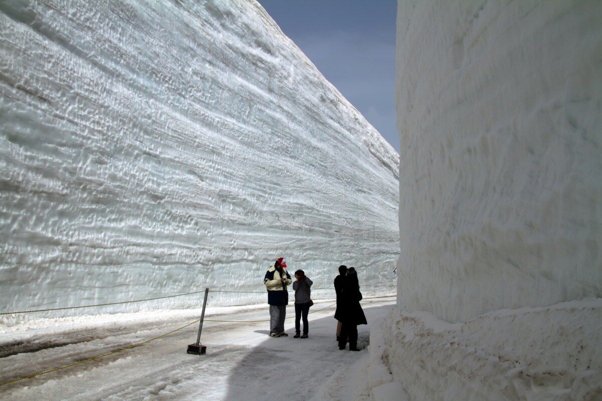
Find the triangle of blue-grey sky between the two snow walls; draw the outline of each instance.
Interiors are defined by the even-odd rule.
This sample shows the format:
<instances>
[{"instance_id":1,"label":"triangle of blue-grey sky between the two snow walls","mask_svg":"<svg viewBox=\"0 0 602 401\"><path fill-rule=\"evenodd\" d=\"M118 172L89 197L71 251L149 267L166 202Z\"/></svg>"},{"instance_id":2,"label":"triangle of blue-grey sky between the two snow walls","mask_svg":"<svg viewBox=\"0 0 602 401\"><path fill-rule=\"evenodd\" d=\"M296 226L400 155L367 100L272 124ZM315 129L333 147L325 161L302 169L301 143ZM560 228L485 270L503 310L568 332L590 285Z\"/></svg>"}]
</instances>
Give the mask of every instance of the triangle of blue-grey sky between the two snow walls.
<instances>
[{"instance_id":1,"label":"triangle of blue-grey sky between the two snow walls","mask_svg":"<svg viewBox=\"0 0 602 401\"><path fill-rule=\"evenodd\" d=\"M399 153L397 0L258 0L282 31Z\"/></svg>"}]
</instances>

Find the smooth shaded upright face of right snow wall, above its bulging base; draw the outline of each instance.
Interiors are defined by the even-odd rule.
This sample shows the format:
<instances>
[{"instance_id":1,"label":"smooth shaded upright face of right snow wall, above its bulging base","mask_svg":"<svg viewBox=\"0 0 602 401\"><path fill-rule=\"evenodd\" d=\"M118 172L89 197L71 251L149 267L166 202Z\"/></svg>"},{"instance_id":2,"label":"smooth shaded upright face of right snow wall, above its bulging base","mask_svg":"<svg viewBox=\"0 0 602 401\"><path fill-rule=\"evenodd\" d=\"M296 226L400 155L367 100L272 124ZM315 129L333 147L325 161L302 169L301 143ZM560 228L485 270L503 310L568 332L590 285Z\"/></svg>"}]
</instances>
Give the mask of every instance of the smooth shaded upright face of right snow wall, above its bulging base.
<instances>
[{"instance_id":1,"label":"smooth shaded upright face of right snow wall, above its bulging base","mask_svg":"<svg viewBox=\"0 0 602 401\"><path fill-rule=\"evenodd\" d=\"M602 296L598 1L399 1L398 303Z\"/></svg>"}]
</instances>

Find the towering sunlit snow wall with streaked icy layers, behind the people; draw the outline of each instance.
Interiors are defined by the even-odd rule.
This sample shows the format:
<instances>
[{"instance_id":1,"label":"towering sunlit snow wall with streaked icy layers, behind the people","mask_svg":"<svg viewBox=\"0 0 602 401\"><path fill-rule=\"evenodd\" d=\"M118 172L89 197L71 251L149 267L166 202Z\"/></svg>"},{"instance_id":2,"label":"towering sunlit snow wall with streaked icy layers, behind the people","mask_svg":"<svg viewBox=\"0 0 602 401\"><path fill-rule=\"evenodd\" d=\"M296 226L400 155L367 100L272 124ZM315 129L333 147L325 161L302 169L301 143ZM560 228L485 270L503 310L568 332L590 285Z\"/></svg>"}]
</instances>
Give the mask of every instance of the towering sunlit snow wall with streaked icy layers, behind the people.
<instances>
[{"instance_id":1,"label":"towering sunlit snow wall with streaked icy layers, behind the people","mask_svg":"<svg viewBox=\"0 0 602 401\"><path fill-rule=\"evenodd\" d=\"M391 284L399 156L257 2L1 2L0 41L2 311Z\"/></svg>"}]
</instances>

